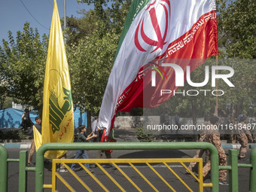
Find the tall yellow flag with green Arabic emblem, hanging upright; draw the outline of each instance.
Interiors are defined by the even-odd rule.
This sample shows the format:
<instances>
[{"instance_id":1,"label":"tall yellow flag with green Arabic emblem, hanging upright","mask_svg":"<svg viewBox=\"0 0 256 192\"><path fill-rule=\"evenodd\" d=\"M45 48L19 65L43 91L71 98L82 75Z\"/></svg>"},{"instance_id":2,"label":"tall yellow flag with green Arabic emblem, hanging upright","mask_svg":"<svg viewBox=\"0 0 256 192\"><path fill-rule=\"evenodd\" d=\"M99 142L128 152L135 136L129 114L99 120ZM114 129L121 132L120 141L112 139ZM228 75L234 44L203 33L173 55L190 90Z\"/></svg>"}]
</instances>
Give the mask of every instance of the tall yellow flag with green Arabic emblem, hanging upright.
<instances>
[{"instance_id":1,"label":"tall yellow flag with green Arabic emblem, hanging upright","mask_svg":"<svg viewBox=\"0 0 256 192\"><path fill-rule=\"evenodd\" d=\"M42 144L48 142L73 142L74 112L69 78L69 66L54 0L53 19L44 76L44 106L42 117ZM59 158L66 151L47 151L44 157Z\"/></svg>"}]
</instances>

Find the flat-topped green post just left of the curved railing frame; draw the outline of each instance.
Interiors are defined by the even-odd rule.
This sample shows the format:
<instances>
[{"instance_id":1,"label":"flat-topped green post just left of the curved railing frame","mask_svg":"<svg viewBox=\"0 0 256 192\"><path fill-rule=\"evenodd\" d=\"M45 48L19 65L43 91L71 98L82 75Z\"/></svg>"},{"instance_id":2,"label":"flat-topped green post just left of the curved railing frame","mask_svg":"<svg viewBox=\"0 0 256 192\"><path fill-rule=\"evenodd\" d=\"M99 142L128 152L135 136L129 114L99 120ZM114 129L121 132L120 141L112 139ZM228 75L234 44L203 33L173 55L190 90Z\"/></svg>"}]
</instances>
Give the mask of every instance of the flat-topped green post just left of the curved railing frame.
<instances>
[{"instance_id":1,"label":"flat-topped green post just left of the curved railing frame","mask_svg":"<svg viewBox=\"0 0 256 192\"><path fill-rule=\"evenodd\" d=\"M20 151L19 192L26 192L28 151Z\"/></svg>"}]
</instances>

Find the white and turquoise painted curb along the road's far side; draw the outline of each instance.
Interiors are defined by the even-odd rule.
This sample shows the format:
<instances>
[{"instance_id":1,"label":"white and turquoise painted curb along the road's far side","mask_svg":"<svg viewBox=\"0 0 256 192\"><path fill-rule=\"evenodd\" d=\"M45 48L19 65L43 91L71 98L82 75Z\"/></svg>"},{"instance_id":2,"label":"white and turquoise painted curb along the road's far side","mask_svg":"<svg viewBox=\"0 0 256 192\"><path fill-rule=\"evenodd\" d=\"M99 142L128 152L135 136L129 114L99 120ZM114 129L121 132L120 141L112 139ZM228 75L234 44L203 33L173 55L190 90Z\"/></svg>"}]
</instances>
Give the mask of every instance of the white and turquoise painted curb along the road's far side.
<instances>
[{"instance_id":1,"label":"white and turquoise painted curb along the road's far side","mask_svg":"<svg viewBox=\"0 0 256 192\"><path fill-rule=\"evenodd\" d=\"M31 144L1 144L5 148L19 148L19 149L30 149ZM222 144L222 148L233 148L239 149L241 145L239 144ZM256 144L249 144L247 148L255 148Z\"/></svg>"}]
</instances>

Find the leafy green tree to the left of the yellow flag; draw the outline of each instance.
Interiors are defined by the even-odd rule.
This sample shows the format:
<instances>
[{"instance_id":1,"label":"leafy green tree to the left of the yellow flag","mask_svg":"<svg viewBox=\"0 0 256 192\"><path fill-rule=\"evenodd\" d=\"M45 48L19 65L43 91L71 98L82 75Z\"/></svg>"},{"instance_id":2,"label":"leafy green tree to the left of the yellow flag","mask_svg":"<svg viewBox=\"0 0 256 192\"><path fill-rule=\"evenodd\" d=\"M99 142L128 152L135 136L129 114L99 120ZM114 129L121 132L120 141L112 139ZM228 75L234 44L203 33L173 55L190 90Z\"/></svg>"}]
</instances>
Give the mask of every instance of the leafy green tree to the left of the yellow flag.
<instances>
[{"instance_id":1,"label":"leafy green tree to the left of the yellow flag","mask_svg":"<svg viewBox=\"0 0 256 192\"><path fill-rule=\"evenodd\" d=\"M42 40L37 29L24 24L17 38L9 32L3 40L1 51L1 78L5 82L5 94L22 105L41 106L44 82L44 66L47 57L47 37Z\"/></svg>"}]
</instances>

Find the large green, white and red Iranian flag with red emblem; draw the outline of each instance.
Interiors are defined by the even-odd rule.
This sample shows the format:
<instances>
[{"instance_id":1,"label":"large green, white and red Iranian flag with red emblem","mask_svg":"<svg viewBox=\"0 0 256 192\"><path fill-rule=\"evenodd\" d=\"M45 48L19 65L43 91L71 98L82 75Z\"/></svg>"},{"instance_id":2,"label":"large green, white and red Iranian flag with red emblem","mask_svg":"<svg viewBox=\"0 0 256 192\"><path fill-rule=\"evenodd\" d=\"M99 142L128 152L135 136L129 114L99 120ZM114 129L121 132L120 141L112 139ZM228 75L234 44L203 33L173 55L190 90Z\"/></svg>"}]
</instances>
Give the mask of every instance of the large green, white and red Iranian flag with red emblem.
<instances>
[{"instance_id":1,"label":"large green, white and red Iranian flag with red emblem","mask_svg":"<svg viewBox=\"0 0 256 192\"><path fill-rule=\"evenodd\" d=\"M133 1L99 112L106 136L117 111L169 99L160 90L177 90L186 73L218 54L217 38L215 0ZM177 73L184 74L181 82Z\"/></svg>"}]
</instances>

